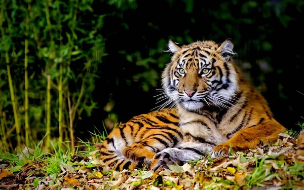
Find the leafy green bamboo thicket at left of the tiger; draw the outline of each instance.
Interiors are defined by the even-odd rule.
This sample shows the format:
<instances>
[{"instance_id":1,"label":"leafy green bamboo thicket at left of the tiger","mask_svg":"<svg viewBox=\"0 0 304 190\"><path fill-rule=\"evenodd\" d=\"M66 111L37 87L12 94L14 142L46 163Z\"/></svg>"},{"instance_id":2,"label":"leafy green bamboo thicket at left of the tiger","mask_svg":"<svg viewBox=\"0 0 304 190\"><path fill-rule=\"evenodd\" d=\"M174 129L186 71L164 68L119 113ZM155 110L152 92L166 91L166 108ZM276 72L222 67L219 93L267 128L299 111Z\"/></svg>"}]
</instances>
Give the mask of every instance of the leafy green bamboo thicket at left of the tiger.
<instances>
[{"instance_id":1,"label":"leafy green bamboo thicket at left of the tiger","mask_svg":"<svg viewBox=\"0 0 304 190\"><path fill-rule=\"evenodd\" d=\"M5 2L5 3L4 3ZM104 15L93 14L92 0L86 1L3 1L1 7L2 41L0 52L0 118L2 136L15 146L12 135L14 123L21 124L24 134L24 35L28 36L28 100L32 140L36 141L46 129L46 113L51 113L51 132L63 126L62 140L71 140L73 128L83 116L90 117L97 108L91 93L95 90L98 65L105 56L104 39L99 30ZM28 7L28 8L27 8ZM25 18L28 12L29 21ZM83 15L90 19L82 20ZM5 55L9 60L5 61ZM19 121L14 121L7 65L12 70L15 102ZM47 77L51 77L51 109L47 109ZM62 98L61 98L62 97ZM61 107L60 107L61 106ZM62 109L62 110L60 110ZM59 127L60 128L60 127ZM68 135L68 133L70 135ZM56 136L52 136L54 138ZM23 136L22 136L23 138ZM5 142L3 142L5 143ZM31 142L32 143L32 142ZM47 147L50 148L50 147Z\"/></svg>"}]
</instances>

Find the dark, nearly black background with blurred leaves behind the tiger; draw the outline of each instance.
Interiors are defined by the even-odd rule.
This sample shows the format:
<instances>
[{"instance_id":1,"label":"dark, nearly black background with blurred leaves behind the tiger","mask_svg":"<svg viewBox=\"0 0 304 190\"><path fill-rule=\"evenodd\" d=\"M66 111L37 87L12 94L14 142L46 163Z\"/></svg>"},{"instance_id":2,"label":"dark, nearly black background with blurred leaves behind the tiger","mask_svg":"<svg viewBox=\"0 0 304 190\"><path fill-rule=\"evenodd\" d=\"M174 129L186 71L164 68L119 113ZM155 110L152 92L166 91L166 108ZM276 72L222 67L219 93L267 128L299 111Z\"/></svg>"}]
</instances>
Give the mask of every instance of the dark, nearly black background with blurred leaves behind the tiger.
<instances>
[{"instance_id":1,"label":"dark, nearly black background with blurred leaves behind the tiger","mask_svg":"<svg viewBox=\"0 0 304 190\"><path fill-rule=\"evenodd\" d=\"M79 122L79 129L102 128L106 118L126 122L156 107L153 96L170 61L162 52L169 39L188 44L227 38L234 41L235 59L268 100L275 118L299 129L295 124L304 116L304 95L299 93L304 93L303 1L111 2L92 6L97 14L106 14L100 32L108 55L93 93L99 108ZM115 104L105 111L108 102Z\"/></svg>"}]
</instances>

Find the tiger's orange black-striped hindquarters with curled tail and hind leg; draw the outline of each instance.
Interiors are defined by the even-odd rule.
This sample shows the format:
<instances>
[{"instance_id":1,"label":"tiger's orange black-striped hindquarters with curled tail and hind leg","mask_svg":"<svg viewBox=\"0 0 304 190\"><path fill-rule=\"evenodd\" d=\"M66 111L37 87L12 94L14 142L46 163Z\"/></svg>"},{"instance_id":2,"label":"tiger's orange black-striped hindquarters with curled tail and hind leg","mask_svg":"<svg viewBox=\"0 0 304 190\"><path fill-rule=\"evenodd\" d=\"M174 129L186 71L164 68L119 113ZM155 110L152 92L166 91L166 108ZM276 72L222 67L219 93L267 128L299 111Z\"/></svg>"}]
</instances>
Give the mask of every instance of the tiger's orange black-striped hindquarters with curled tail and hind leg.
<instances>
[{"instance_id":1,"label":"tiger's orange black-striped hindquarters with curled tail and hind leg","mask_svg":"<svg viewBox=\"0 0 304 190\"><path fill-rule=\"evenodd\" d=\"M133 117L115 128L98 145L100 159L115 170L134 169L151 163L156 153L182 140L175 108L164 108Z\"/></svg>"}]
</instances>

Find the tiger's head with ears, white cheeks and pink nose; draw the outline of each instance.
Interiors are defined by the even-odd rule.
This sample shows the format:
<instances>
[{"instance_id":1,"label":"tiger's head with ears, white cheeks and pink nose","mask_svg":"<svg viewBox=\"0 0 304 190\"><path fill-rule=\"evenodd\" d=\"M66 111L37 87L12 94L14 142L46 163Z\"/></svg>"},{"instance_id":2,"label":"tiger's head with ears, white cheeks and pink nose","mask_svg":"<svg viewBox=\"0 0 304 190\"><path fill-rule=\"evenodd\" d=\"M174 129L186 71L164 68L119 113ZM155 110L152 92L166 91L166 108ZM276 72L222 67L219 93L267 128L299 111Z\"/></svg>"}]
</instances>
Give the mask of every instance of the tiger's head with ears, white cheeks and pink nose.
<instances>
[{"instance_id":1,"label":"tiger's head with ears, white cheeks and pink nose","mask_svg":"<svg viewBox=\"0 0 304 190\"><path fill-rule=\"evenodd\" d=\"M162 84L171 102L187 110L205 105L224 107L237 91L238 77L231 56L233 43L220 46L211 41L178 46L169 41L171 62L162 75Z\"/></svg>"}]
</instances>

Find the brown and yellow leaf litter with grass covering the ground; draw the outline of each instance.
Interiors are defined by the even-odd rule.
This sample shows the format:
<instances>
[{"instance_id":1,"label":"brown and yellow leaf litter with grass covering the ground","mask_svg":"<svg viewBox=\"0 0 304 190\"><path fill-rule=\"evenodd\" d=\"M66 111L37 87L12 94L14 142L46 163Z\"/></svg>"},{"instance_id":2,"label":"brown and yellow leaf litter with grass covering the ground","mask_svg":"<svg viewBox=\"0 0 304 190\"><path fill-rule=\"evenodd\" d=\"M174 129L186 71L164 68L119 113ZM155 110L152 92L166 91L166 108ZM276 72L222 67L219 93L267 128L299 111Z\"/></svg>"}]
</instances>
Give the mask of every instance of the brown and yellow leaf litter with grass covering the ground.
<instances>
[{"instance_id":1,"label":"brown and yellow leaf litter with grass covering the ground","mask_svg":"<svg viewBox=\"0 0 304 190\"><path fill-rule=\"evenodd\" d=\"M296 150L295 139L281 133L273 145L226 158L206 156L156 172L113 171L98 159L98 150L88 157L74 155L66 163L58 162L60 170L54 173L46 169L45 161L33 159L16 168L1 159L0 189L304 189L304 159L295 156Z\"/></svg>"}]
</instances>

